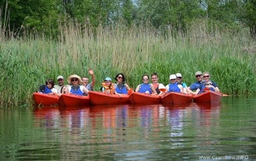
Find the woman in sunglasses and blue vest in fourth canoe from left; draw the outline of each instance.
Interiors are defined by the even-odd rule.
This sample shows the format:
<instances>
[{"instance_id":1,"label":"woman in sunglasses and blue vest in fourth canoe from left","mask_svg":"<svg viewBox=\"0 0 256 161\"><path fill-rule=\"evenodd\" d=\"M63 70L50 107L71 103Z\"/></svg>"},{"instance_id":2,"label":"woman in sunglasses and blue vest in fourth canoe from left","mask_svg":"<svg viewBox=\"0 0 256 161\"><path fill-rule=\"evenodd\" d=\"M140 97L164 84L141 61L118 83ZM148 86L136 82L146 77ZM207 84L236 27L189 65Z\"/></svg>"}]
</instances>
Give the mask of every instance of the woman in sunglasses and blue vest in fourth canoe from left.
<instances>
[{"instance_id":1,"label":"woman in sunglasses and blue vest in fourth canoe from left","mask_svg":"<svg viewBox=\"0 0 256 161\"><path fill-rule=\"evenodd\" d=\"M135 89L135 92L138 93L145 93L145 94L154 94L157 95L156 89L154 89L154 86L149 83L149 75L144 74L142 75L142 84L139 84L137 88Z\"/></svg>"}]
</instances>

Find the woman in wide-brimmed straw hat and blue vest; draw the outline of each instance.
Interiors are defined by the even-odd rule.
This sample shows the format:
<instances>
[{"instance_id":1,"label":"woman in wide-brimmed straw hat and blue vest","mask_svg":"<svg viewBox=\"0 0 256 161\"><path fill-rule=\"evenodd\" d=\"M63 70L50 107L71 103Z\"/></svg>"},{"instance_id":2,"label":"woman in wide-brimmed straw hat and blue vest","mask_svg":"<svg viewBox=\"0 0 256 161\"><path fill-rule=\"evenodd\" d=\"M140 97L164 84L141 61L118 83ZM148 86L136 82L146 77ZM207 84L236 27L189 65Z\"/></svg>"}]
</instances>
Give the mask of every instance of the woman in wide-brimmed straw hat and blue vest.
<instances>
[{"instance_id":1,"label":"woman in wide-brimmed straw hat and blue vest","mask_svg":"<svg viewBox=\"0 0 256 161\"><path fill-rule=\"evenodd\" d=\"M79 77L76 74L70 75L67 78L67 82L69 82L69 85L66 89L65 89L65 93L73 93L73 94L77 94L77 95L81 95L83 96L84 93L88 94L88 89L86 87L84 87L82 84L82 80L81 77Z\"/></svg>"}]
</instances>

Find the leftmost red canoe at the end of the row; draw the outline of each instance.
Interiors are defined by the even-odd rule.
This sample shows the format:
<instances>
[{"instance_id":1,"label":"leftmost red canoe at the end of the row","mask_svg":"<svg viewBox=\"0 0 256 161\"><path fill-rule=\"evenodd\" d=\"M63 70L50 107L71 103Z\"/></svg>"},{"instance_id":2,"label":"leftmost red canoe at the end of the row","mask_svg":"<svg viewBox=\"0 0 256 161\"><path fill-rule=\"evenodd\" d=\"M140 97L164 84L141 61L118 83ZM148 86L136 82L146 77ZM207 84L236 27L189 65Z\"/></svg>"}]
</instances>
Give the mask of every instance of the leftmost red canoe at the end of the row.
<instances>
[{"instance_id":1,"label":"leftmost red canoe at the end of the row","mask_svg":"<svg viewBox=\"0 0 256 161\"><path fill-rule=\"evenodd\" d=\"M54 94L33 93L33 99L37 106L58 105L58 98L59 96Z\"/></svg>"}]
</instances>

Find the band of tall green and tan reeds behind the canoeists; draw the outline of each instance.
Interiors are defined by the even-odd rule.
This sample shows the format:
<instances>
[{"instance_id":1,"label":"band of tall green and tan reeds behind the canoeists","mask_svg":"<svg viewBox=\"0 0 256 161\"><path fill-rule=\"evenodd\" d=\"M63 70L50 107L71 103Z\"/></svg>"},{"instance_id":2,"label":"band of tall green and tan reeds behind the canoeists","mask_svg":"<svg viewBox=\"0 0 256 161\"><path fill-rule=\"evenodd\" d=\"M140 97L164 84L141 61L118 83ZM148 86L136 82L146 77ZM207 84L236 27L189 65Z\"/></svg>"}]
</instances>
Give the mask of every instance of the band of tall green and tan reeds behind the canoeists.
<instances>
[{"instance_id":1,"label":"band of tall green and tan reeds behind the canoeists","mask_svg":"<svg viewBox=\"0 0 256 161\"><path fill-rule=\"evenodd\" d=\"M223 93L256 91L254 55L243 50L253 40L243 31L207 33L206 25L199 23L175 37L172 31L163 36L148 26L127 29L122 24L97 29L60 25L58 33L57 40L45 35L5 39L1 30L1 105L27 103L46 79L60 74L90 76L88 68L95 72L96 91L105 77L114 79L118 72L135 88L143 74L152 72L158 72L165 85L170 74L180 72L190 85L198 70L210 71Z\"/></svg>"}]
</instances>

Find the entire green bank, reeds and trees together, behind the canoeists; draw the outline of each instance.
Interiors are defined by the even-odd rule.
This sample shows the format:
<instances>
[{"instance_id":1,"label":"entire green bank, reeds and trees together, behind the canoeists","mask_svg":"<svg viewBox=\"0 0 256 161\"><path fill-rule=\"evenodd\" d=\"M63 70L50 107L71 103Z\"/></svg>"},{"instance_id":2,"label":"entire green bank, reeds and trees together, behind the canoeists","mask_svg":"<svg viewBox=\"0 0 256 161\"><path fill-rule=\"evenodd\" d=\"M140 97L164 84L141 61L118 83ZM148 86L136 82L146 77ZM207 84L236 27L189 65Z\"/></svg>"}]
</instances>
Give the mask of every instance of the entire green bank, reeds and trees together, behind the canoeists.
<instances>
[{"instance_id":1,"label":"entire green bank, reeds and trees together, behind the canoeists","mask_svg":"<svg viewBox=\"0 0 256 161\"><path fill-rule=\"evenodd\" d=\"M0 105L30 103L46 79L88 68L95 91L119 72L135 88L152 72L163 84L180 72L190 85L201 70L222 93L255 94L253 1L136 2L0 1Z\"/></svg>"}]
</instances>

